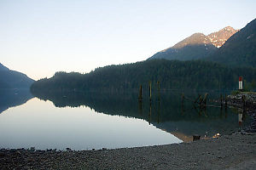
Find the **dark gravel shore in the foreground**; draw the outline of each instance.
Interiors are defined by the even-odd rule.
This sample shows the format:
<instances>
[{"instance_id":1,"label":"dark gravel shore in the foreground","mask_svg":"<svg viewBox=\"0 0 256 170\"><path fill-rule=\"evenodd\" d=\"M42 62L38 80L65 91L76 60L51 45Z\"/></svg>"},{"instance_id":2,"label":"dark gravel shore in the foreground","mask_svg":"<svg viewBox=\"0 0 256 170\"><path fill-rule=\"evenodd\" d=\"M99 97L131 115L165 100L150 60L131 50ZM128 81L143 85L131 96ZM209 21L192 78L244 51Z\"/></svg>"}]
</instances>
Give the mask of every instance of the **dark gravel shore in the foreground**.
<instances>
[{"instance_id":1,"label":"dark gravel shore in the foreground","mask_svg":"<svg viewBox=\"0 0 256 170\"><path fill-rule=\"evenodd\" d=\"M0 169L256 169L256 135L116 150L0 150Z\"/></svg>"}]
</instances>

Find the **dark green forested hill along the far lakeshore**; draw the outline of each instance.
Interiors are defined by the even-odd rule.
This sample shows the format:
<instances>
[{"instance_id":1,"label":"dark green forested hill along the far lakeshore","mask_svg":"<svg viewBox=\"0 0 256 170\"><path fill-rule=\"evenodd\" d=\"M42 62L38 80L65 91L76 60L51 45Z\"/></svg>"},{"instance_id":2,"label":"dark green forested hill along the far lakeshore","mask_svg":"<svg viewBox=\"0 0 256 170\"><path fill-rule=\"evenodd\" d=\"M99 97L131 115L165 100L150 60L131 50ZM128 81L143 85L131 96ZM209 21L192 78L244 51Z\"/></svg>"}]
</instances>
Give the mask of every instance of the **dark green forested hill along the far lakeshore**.
<instances>
[{"instance_id":1,"label":"dark green forested hill along the far lakeshore","mask_svg":"<svg viewBox=\"0 0 256 170\"><path fill-rule=\"evenodd\" d=\"M212 62L193 60L177 61L150 59L134 64L108 65L87 74L56 72L54 77L44 78L32 84L36 91L125 91L137 90L140 85L148 89L148 82L156 89L236 89L238 77L246 80L249 88L255 88L253 68L230 68Z\"/></svg>"}]
</instances>

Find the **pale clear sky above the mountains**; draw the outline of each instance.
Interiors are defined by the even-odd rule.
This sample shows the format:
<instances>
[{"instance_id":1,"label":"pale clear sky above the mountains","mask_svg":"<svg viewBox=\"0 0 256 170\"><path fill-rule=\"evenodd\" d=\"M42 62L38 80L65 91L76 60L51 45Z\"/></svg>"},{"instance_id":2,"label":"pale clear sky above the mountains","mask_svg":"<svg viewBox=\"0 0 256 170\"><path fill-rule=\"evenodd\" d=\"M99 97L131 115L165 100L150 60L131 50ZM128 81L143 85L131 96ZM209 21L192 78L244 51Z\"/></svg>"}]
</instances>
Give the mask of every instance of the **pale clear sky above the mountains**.
<instances>
[{"instance_id":1,"label":"pale clear sky above the mountains","mask_svg":"<svg viewBox=\"0 0 256 170\"><path fill-rule=\"evenodd\" d=\"M0 0L0 62L28 77L147 59L195 32L241 29L255 0Z\"/></svg>"}]
</instances>

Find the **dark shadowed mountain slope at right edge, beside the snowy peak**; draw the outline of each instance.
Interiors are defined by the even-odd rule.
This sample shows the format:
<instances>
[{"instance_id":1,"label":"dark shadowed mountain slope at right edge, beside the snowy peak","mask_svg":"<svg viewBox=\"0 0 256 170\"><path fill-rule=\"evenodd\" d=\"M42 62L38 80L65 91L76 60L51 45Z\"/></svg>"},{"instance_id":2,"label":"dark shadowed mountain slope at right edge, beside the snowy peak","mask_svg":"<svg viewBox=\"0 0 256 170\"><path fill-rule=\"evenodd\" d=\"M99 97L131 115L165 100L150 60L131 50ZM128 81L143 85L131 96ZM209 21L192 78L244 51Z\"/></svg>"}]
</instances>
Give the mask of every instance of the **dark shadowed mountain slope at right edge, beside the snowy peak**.
<instances>
[{"instance_id":1,"label":"dark shadowed mountain slope at right edge, beside the snowy peak","mask_svg":"<svg viewBox=\"0 0 256 170\"><path fill-rule=\"evenodd\" d=\"M230 66L256 67L256 19L237 31L207 60Z\"/></svg>"}]
</instances>

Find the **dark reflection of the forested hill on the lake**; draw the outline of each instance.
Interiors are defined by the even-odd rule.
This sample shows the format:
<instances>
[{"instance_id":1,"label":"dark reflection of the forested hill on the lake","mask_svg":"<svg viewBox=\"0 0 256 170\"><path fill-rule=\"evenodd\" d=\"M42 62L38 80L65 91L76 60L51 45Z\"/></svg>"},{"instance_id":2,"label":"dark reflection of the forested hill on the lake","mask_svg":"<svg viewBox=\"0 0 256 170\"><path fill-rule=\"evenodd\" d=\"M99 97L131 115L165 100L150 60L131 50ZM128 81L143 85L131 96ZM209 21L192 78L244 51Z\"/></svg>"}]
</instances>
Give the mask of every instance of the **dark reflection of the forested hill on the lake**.
<instances>
[{"instance_id":1,"label":"dark reflection of the forested hill on the lake","mask_svg":"<svg viewBox=\"0 0 256 170\"><path fill-rule=\"evenodd\" d=\"M86 105L108 115L144 119L166 132L178 134L177 137L183 136L183 139L193 134L212 136L215 133L230 133L237 127L237 115L230 110L225 113L225 110L221 112L219 108L207 108L207 112L200 113L194 109L191 102L186 101L182 112L180 93L160 94L160 101L158 94L154 93L151 107L147 95L143 95L143 102L140 104L137 94L134 93L35 95L40 99L51 100L57 107ZM190 94L191 98L196 95L197 93Z\"/></svg>"}]
</instances>

